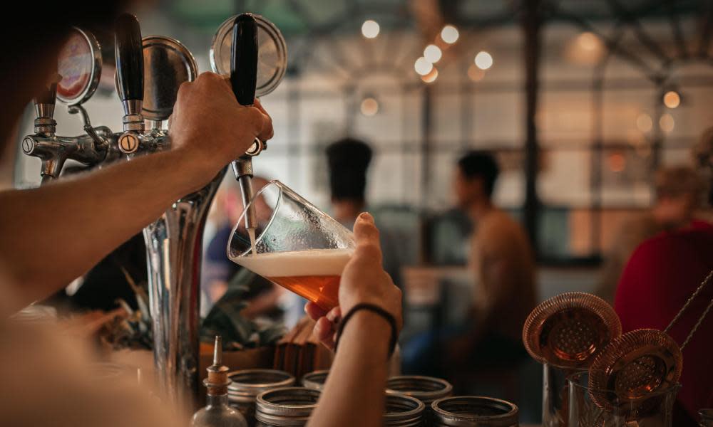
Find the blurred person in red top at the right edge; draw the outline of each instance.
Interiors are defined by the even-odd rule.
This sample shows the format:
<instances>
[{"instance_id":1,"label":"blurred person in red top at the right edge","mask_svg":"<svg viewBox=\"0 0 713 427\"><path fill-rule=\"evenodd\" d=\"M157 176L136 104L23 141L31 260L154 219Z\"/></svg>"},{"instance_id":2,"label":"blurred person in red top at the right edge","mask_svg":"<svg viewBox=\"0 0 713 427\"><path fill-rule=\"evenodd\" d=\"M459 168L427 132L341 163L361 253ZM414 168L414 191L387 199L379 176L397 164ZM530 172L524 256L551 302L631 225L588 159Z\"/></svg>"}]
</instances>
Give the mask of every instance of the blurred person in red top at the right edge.
<instances>
[{"instance_id":1,"label":"blurred person in red top at the right edge","mask_svg":"<svg viewBox=\"0 0 713 427\"><path fill-rule=\"evenodd\" d=\"M660 233L632 254L619 282L615 310L624 332L664 330L713 270L713 225L694 221L677 231ZM683 344L713 298L709 283L670 330ZM673 425L697 426L697 412L713 407L713 313L702 322L683 350L682 389L674 406Z\"/></svg>"}]
</instances>

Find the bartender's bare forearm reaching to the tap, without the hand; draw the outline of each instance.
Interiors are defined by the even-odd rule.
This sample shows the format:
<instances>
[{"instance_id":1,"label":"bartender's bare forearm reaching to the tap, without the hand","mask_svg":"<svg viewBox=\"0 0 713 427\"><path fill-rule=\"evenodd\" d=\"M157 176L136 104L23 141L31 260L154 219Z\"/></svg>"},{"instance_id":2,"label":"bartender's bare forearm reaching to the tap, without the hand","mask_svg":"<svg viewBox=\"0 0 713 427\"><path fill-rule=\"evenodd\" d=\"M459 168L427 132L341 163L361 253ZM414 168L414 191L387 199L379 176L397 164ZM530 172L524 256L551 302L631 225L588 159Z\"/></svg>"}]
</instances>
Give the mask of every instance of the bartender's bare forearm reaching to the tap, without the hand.
<instances>
[{"instance_id":1,"label":"bartender's bare forearm reaching to the tap, without the hand","mask_svg":"<svg viewBox=\"0 0 713 427\"><path fill-rule=\"evenodd\" d=\"M210 171L188 171L180 150L53 182L0 192L0 262L19 307L51 295L200 188Z\"/></svg>"}]
</instances>

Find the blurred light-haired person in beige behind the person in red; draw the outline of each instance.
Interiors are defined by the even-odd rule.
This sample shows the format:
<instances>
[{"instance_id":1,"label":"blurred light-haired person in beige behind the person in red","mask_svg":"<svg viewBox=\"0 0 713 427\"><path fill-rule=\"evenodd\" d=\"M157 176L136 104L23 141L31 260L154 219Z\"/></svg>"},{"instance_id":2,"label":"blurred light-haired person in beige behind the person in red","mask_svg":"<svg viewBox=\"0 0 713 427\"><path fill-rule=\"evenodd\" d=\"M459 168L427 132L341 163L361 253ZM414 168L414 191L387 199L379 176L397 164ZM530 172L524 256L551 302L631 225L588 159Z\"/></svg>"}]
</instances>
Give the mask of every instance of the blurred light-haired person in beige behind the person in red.
<instances>
[{"instance_id":1,"label":"blurred light-haired person in beige behind the person in red","mask_svg":"<svg viewBox=\"0 0 713 427\"><path fill-rule=\"evenodd\" d=\"M654 206L620 226L607 255L595 293L610 304L622 270L640 243L663 231L701 225L702 221L694 219L705 193L699 173L686 166L665 167L657 171L655 179Z\"/></svg>"}]
</instances>

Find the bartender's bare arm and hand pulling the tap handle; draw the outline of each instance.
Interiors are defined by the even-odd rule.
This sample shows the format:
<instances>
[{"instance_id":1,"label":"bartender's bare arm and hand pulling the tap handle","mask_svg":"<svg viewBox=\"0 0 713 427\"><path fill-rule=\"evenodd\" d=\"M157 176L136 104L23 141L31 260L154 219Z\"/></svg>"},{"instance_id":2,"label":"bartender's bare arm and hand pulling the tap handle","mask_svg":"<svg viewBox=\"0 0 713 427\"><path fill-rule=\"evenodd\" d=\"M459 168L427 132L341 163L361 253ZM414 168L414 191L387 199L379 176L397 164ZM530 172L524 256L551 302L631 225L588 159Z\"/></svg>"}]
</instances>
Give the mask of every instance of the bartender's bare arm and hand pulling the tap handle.
<instances>
[{"instance_id":1,"label":"bartender's bare arm and hand pulling the tap handle","mask_svg":"<svg viewBox=\"0 0 713 427\"><path fill-rule=\"evenodd\" d=\"M203 73L178 91L173 148L42 186L0 192L0 263L19 307L50 295L210 182L255 137L270 139L260 102L243 107L225 78Z\"/></svg>"}]
</instances>

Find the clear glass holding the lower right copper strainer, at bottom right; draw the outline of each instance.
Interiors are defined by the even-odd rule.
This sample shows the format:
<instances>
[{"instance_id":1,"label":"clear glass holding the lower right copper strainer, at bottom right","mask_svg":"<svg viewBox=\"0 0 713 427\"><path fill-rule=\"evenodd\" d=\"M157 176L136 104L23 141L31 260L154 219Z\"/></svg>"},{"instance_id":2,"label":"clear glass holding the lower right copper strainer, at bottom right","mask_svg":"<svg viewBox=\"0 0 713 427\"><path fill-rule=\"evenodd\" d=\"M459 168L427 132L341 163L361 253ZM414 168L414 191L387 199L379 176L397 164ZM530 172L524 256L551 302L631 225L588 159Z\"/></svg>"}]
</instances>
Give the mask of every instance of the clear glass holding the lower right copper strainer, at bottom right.
<instances>
[{"instance_id":1,"label":"clear glass holding the lower right copper strainer, at bottom right","mask_svg":"<svg viewBox=\"0 0 713 427\"><path fill-rule=\"evenodd\" d=\"M590 389L588 371L570 375L568 382L570 426L671 427L673 404L681 388L674 384L635 401L611 401L612 408L605 410L595 404L592 394L616 396L614 390Z\"/></svg>"}]
</instances>

